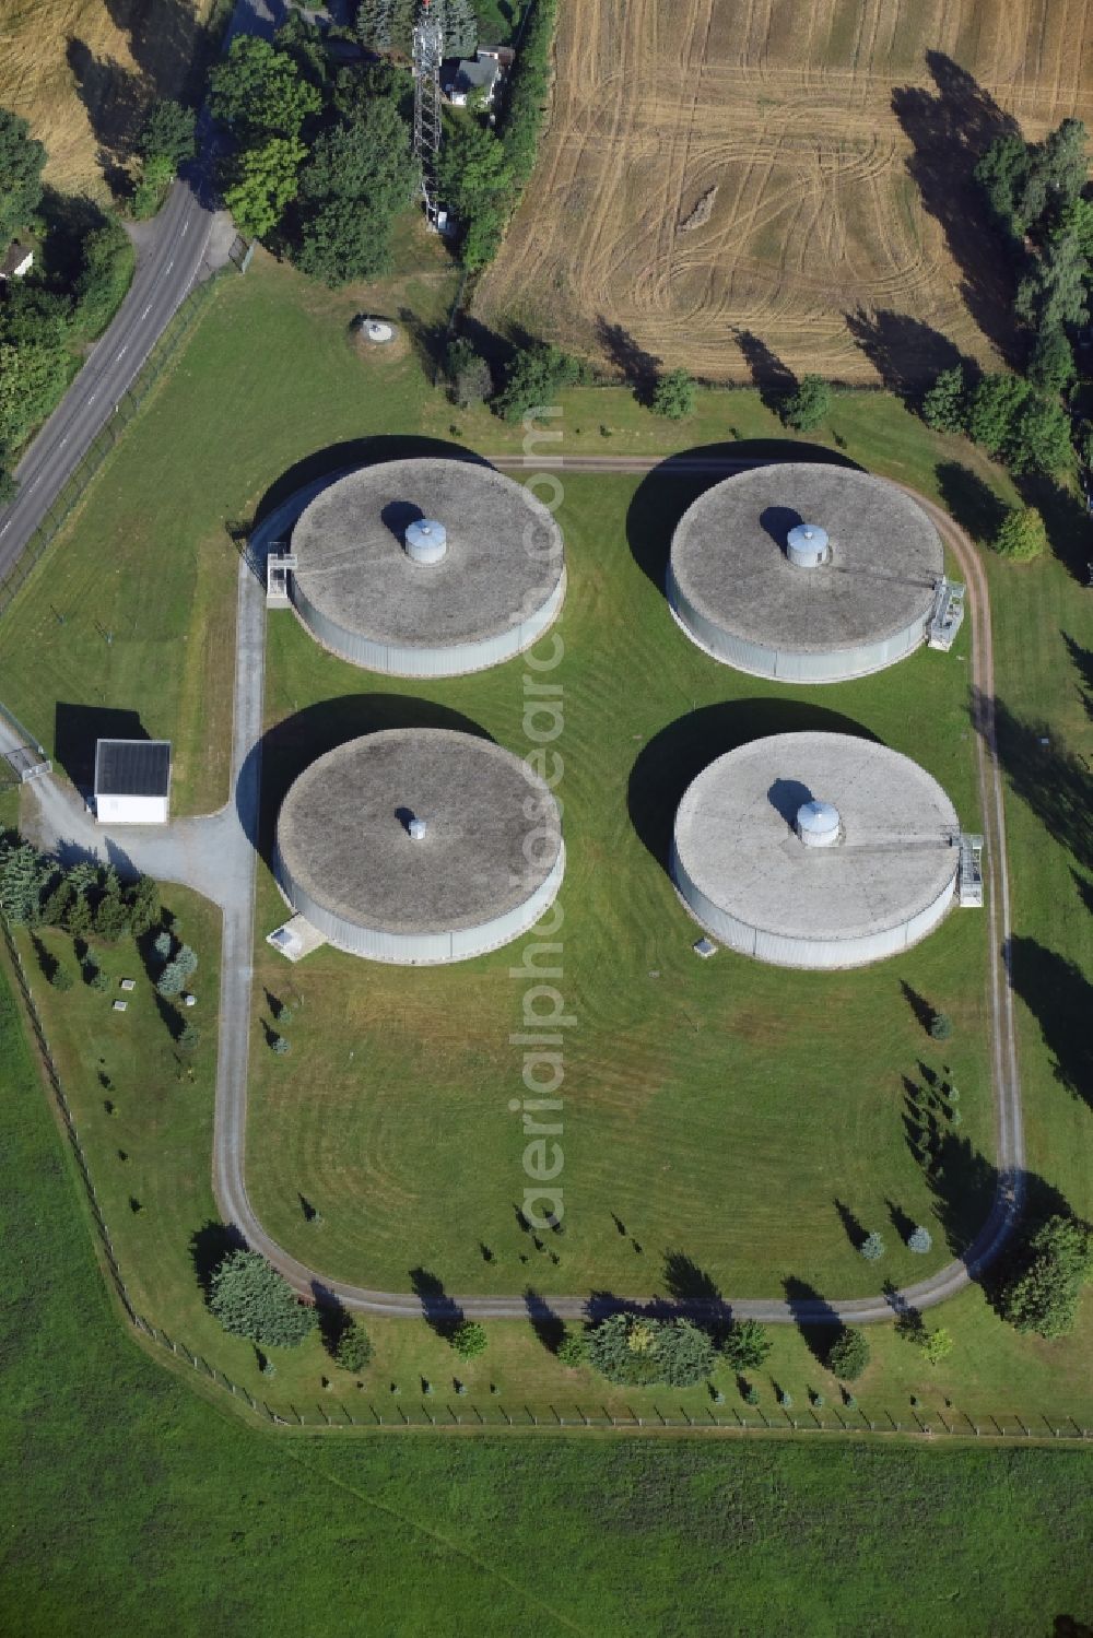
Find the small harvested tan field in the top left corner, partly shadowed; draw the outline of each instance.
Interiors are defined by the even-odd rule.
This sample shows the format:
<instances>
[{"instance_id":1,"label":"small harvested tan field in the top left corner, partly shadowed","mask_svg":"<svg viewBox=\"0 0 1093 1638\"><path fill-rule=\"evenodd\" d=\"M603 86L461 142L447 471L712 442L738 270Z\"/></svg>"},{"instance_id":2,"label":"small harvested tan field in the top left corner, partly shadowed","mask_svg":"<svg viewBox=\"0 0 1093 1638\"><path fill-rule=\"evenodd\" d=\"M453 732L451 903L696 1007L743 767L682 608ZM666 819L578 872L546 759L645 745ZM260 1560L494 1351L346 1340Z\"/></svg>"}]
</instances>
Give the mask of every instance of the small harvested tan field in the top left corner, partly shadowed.
<instances>
[{"instance_id":1,"label":"small harvested tan field in the top left corner, partly shadowed","mask_svg":"<svg viewBox=\"0 0 1093 1638\"><path fill-rule=\"evenodd\" d=\"M46 180L102 193L147 100L177 95L215 0L0 0L0 105L49 149Z\"/></svg>"}]
</instances>

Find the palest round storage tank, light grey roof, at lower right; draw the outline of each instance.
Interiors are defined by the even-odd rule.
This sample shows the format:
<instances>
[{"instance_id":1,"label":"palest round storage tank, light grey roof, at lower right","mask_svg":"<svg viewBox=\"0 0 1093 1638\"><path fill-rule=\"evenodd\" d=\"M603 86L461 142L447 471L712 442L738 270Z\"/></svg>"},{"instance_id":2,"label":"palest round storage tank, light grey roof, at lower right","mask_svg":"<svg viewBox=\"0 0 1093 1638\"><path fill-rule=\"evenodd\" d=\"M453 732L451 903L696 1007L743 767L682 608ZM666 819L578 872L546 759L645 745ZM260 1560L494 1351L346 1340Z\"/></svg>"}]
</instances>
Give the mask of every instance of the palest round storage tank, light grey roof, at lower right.
<instances>
[{"instance_id":1,"label":"palest round storage tank, light grey roof, at lower right","mask_svg":"<svg viewBox=\"0 0 1093 1638\"><path fill-rule=\"evenodd\" d=\"M909 757L849 734L775 734L687 790L672 880L706 932L777 966L862 966L952 904L957 812Z\"/></svg>"}]
</instances>

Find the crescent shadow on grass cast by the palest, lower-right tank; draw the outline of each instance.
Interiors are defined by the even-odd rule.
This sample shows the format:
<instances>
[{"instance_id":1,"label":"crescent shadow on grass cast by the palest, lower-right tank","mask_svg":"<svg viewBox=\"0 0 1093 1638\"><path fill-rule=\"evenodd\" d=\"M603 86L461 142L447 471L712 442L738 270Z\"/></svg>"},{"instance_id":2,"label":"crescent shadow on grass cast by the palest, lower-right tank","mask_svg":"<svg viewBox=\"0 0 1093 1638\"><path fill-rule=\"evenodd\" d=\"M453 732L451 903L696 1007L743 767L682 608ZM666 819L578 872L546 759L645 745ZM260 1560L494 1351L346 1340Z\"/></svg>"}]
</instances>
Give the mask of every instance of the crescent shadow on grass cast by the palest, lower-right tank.
<instances>
[{"instance_id":1,"label":"crescent shadow on grass cast by the palest, lower-right tank","mask_svg":"<svg viewBox=\"0 0 1093 1638\"><path fill-rule=\"evenodd\" d=\"M873 735L850 717L798 699L739 699L700 706L655 734L642 747L626 793L634 830L667 868L672 824L683 791L716 757L767 734L798 729Z\"/></svg>"}]
</instances>

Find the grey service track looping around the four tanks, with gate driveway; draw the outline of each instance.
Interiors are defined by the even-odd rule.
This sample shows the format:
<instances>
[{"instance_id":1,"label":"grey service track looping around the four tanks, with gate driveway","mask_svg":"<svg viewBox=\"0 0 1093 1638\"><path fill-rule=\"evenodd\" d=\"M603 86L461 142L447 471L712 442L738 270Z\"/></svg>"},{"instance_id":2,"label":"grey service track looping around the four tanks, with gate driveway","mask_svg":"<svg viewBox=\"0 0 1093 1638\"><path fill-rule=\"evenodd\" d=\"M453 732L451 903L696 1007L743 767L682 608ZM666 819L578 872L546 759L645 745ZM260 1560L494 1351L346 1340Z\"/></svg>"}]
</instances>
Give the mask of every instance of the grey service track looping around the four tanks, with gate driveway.
<instances>
[{"instance_id":1,"label":"grey service track looping around the four tanks, with gate driveway","mask_svg":"<svg viewBox=\"0 0 1093 1638\"><path fill-rule=\"evenodd\" d=\"M510 470L526 468L523 460L513 457L497 457L495 464ZM675 470L728 473L752 464L741 460L680 462L675 464ZM556 467L567 472L647 472L660 465L660 462L642 457L593 455L565 460L536 460L533 465L536 470ZM321 483L311 485L303 495L293 496L292 501L262 524L252 542L256 555L261 557L270 541L287 532L295 513L321 486ZM972 685L983 701L993 701L990 601L986 578L975 547L941 508L923 496L916 496L916 500L934 518L965 575L972 618ZM252 837L259 803L262 678L265 660L264 588L246 562L239 565L238 596L239 637L234 685L233 803L218 814L205 819L184 819L161 832L123 830L107 834L90 822L80 804L74 803L70 794L56 780L36 780L28 790L33 793L38 822L28 829L44 845L64 845L67 842L97 852L100 857L113 855L123 863L128 860L136 868L147 870L162 880L184 881L221 906L224 914L224 943L221 955L213 1184L224 1222L234 1224L247 1243L261 1250L302 1294L328 1299L336 1297L344 1307L364 1314L418 1319L423 1312L423 1302L416 1294L379 1291L326 1279L321 1271L293 1258L265 1232L251 1206L246 1189L247 1058L251 1042L254 885L257 870ZM937 663L946 663L946 660L939 658ZM872 1324L890 1320L906 1307L927 1309L955 1296L996 1256L1009 1235L1021 1204L1024 1137L1013 994L1003 963L1003 952L1009 940L1009 883L1006 875L1001 778L995 752L993 711L990 706L985 708L980 732L977 734L977 758L986 835L985 870L991 950L993 1084L996 1165L1000 1173L996 1199L986 1224L967 1256L949 1263L931 1278L890 1296L854 1301L803 1301L793 1304L782 1299L736 1301L726 1296L723 1301L713 1304L683 1304L688 1312L724 1314L726 1309L731 1309L737 1317L759 1319L770 1324L796 1324L801 1320ZM521 1319L528 1315L528 1304L519 1296L482 1297L454 1294L446 1301L456 1302L464 1314L475 1319ZM652 1299L628 1299L628 1302L634 1301ZM582 1319L587 1314L587 1297L583 1296L546 1299L546 1305L562 1319Z\"/></svg>"}]
</instances>

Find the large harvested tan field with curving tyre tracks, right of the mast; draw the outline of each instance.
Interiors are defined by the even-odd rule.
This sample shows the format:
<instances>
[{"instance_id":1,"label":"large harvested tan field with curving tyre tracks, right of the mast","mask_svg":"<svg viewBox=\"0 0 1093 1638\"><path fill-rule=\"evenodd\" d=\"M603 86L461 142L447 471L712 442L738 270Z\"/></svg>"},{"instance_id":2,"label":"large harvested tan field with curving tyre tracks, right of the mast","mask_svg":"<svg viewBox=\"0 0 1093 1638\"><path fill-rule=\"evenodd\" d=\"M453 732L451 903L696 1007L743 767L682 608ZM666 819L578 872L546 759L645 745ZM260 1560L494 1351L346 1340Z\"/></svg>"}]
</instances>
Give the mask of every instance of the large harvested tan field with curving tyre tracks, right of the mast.
<instances>
[{"instance_id":1,"label":"large harvested tan field with curving tyre tracks, right of the mast","mask_svg":"<svg viewBox=\"0 0 1093 1638\"><path fill-rule=\"evenodd\" d=\"M1006 347L970 169L1093 123L1088 0L565 0L475 313L641 369L914 380Z\"/></svg>"}]
</instances>

